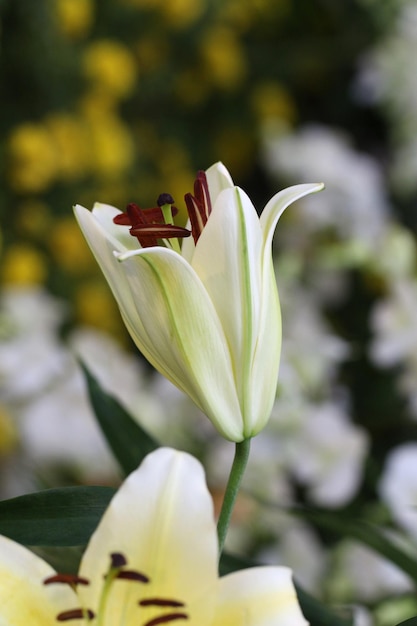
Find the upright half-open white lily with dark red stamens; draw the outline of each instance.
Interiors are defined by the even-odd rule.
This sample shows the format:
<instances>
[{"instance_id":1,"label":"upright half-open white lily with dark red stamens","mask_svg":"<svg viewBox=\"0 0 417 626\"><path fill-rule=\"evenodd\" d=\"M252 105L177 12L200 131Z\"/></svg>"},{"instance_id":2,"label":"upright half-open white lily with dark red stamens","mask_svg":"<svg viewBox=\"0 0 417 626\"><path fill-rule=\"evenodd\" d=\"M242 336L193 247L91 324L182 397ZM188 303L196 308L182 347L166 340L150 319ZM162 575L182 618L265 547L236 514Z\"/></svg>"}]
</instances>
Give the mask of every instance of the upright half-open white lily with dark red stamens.
<instances>
[{"instance_id":1,"label":"upright half-open white lily with dark red stamens","mask_svg":"<svg viewBox=\"0 0 417 626\"><path fill-rule=\"evenodd\" d=\"M161 208L130 204L127 213L104 204L92 212L75 207L138 348L231 441L262 430L275 398L281 352L275 226L289 204L322 188L284 189L259 218L217 163L199 172L194 195L185 196L187 228L166 218L169 194L160 196Z\"/></svg>"}]
</instances>

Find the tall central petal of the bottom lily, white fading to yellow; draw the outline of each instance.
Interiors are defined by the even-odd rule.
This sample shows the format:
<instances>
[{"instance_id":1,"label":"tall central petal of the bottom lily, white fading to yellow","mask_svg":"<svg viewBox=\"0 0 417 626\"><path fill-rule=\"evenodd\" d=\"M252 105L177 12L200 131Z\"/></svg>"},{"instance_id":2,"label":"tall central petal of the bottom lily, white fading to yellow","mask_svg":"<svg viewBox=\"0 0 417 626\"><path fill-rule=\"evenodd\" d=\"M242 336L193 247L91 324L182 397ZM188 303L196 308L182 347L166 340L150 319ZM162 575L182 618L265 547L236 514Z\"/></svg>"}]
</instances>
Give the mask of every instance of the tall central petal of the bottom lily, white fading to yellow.
<instances>
[{"instance_id":1,"label":"tall central petal of the bottom lily, white fading to yellow","mask_svg":"<svg viewBox=\"0 0 417 626\"><path fill-rule=\"evenodd\" d=\"M217 536L212 499L196 459L159 448L120 487L80 566L80 575L92 584L79 594L93 610L112 552L124 554L128 569L140 571L150 582L117 581L109 594L106 623L142 623L139 610L146 610L146 617L152 618L154 609L140 609L138 600L157 597L184 602L184 611L197 605L198 613L207 615L205 623L210 624L210 600L218 580Z\"/></svg>"}]
</instances>

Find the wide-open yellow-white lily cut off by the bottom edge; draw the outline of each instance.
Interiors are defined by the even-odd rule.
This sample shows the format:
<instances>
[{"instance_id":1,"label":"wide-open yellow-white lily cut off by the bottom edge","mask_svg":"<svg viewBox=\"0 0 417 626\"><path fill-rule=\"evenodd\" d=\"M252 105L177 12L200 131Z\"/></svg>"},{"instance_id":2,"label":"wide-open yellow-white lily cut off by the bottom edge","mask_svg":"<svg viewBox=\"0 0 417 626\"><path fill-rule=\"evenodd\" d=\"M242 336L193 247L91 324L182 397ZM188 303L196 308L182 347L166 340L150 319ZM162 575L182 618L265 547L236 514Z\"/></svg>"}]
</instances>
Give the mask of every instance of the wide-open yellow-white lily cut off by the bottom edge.
<instances>
[{"instance_id":1,"label":"wide-open yellow-white lily cut off by the bottom edge","mask_svg":"<svg viewBox=\"0 0 417 626\"><path fill-rule=\"evenodd\" d=\"M285 567L217 575L203 469L160 448L123 483L77 576L0 537L0 623L53 626L307 626Z\"/></svg>"}]
</instances>

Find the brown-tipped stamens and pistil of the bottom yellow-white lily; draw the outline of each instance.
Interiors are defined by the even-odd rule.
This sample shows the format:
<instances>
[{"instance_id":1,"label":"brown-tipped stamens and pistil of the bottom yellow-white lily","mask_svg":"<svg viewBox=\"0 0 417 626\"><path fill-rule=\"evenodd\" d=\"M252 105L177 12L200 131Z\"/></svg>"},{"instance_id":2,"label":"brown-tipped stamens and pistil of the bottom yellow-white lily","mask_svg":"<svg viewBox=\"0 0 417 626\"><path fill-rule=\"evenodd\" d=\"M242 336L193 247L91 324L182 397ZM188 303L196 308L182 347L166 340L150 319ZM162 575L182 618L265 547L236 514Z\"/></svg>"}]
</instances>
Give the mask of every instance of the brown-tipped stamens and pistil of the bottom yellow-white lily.
<instances>
[{"instance_id":1,"label":"brown-tipped stamens and pistil of the bottom yellow-white lily","mask_svg":"<svg viewBox=\"0 0 417 626\"><path fill-rule=\"evenodd\" d=\"M104 575L104 583L101 590L97 611L91 608L75 608L63 611L56 616L58 622L67 622L74 619L84 619L95 622L96 626L105 626L107 604L110 592L115 580L124 580L134 583L149 584L151 581L142 572L129 569L127 567L127 559L120 552L113 552L110 555L110 567ZM72 574L56 574L44 580L45 585L50 584L66 584L72 589L76 589L78 585L89 585L90 581L82 576ZM140 597L138 593L137 607L139 609L139 617L143 617L144 621L135 622L135 626L158 626L159 624L169 624L178 620L188 620L189 615L185 613L185 604L180 600L162 597ZM148 619L146 613L153 610L153 617ZM160 613L155 615L155 611ZM122 607L121 607L122 613ZM112 624L111 626L114 626Z\"/></svg>"}]
</instances>

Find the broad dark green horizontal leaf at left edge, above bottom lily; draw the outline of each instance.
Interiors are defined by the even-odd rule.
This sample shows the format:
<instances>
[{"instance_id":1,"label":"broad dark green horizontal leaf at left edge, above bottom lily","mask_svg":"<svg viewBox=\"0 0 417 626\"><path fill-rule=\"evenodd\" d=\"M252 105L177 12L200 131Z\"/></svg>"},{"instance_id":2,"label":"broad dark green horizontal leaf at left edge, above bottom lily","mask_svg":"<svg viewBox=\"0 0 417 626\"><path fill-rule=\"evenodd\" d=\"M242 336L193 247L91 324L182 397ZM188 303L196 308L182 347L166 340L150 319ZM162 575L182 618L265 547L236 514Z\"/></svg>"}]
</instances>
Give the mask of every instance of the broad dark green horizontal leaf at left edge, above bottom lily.
<instances>
[{"instance_id":1,"label":"broad dark green horizontal leaf at left edge, above bottom lily","mask_svg":"<svg viewBox=\"0 0 417 626\"><path fill-rule=\"evenodd\" d=\"M84 545L115 491L64 487L3 500L0 534L28 546Z\"/></svg>"}]
</instances>

